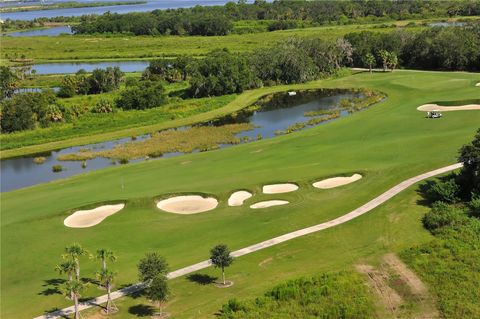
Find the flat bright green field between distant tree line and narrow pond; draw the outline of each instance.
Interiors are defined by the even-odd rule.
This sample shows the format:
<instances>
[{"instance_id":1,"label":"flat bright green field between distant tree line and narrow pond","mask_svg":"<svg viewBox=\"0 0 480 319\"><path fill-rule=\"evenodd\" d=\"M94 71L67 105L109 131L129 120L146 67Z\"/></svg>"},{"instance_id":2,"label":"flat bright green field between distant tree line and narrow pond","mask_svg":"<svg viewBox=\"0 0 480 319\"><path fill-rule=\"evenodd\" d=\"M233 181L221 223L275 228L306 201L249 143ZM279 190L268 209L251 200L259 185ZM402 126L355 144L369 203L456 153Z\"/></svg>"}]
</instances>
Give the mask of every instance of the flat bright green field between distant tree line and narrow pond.
<instances>
[{"instance_id":1,"label":"flat bright green field between distant tree line and narrow pond","mask_svg":"<svg viewBox=\"0 0 480 319\"><path fill-rule=\"evenodd\" d=\"M419 29L422 27L415 27ZM336 38L349 32L364 30L391 31L376 25L328 26L276 32L231 34L228 36L58 36L2 38L1 62L8 64L7 55L24 54L35 63L86 61L104 59L149 59L162 56L203 56L213 49L228 48L233 52L249 52L273 45L292 36ZM412 28L409 28L412 29ZM0 64L2 64L0 63Z\"/></svg>"}]
</instances>

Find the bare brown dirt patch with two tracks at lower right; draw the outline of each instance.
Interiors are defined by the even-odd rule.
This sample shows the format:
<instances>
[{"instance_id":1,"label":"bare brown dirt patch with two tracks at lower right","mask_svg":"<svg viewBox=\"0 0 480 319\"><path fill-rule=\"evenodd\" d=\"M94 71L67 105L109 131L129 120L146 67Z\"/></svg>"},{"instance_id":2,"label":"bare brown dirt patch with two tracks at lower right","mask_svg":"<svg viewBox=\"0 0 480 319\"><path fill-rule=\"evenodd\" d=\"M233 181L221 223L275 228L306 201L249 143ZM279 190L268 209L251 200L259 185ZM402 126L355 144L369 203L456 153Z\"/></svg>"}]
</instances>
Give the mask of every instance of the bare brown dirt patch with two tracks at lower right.
<instances>
[{"instance_id":1,"label":"bare brown dirt patch with two tracks at lower right","mask_svg":"<svg viewBox=\"0 0 480 319\"><path fill-rule=\"evenodd\" d=\"M375 291L381 318L439 318L427 287L395 254L385 255L378 267L357 265L356 269Z\"/></svg>"}]
</instances>

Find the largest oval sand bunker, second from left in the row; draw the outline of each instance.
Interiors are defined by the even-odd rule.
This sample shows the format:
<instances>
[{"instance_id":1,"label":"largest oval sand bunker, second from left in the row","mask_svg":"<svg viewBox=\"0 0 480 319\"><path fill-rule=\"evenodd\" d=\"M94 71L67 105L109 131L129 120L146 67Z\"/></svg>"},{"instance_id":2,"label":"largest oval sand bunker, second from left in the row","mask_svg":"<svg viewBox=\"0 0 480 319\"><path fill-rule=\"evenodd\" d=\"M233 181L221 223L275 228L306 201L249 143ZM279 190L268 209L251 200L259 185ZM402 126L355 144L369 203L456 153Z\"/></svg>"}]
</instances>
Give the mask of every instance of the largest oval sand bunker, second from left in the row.
<instances>
[{"instance_id":1,"label":"largest oval sand bunker, second from left in the row","mask_svg":"<svg viewBox=\"0 0 480 319\"><path fill-rule=\"evenodd\" d=\"M213 197L199 195L176 196L157 203L163 211L175 214L189 215L203 213L216 208L218 201Z\"/></svg>"}]
</instances>

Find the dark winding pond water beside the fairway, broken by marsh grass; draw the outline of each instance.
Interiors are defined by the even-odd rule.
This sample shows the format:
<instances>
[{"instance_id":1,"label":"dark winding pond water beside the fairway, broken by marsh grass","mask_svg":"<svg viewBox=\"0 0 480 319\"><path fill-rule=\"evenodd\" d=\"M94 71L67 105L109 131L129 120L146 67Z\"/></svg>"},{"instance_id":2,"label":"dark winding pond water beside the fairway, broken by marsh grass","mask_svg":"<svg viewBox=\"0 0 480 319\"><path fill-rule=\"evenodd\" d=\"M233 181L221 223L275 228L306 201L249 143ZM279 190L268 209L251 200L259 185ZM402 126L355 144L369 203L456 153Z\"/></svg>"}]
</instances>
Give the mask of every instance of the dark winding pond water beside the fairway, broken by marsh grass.
<instances>
[{"instance_id":1,"label":"dark winding pond water beside the fairway, broken by marsh grass","mask_svg":"<svg viewBox=\"0 0 480 319\"><path fill-rule=\"evenodd\" d=\"M249 112L243 114L243 116L237 116L236 120L232 120L230 117L225 117L210 123L204 123L202 125L220 125L221 123L231 122L250 122L255 126L251 131L245 131L237 134L238 137L249 136L255 139L258 134L261 134L263 138L273 138L276 136L275 132L278 130L285 130L290 125L298 122L307 121L308 117L304 116L305 112L315 111L320 109L332 109L338 105L338 102L344 98L358 97L358 93L352 93L348 91L324 91L320 93L309 93L309 96L299 93L297 96L291 97L286 93L275 95L276 103L272 107L271 102L265 104L260 110L256 112ZM275 101L275 99L273 101ZM343 111L341 117L347 116L348 112ZM323 122L324 124L327 122ZM320 125L321 125L320 124ZM188 128L182 128L188 129ZM142 141L150 138L149 135L143 135L137 137L136 141ZM58 151L49 152L46 154L37 154L35 156L27 156L20 158L12 158L3 160L0 162L1 168L1 191L11 191L31 185L45 183L48 181L57 180L73 175L77 175L83 172L98 170L101 168L109 167L112 164L112 160L106 158L95 158L88 160L87 166L82 168L82 162L68 162L58 161L57 157L62 154L77 153L82 149L90 150L106 150L115 147L116 145L131 142L131 138L123 138L114 141L108 141L103 143L91 144L70 147ZM220 145L220 147L231 147L232 145ZM182 153L169 153L164 154L163 157L179 156ZM33 159L36 156L44 156L46 158L45 163L35 164ZM154 160L154 159L150 159ZM144 159L138 159L130 162L144 161ZM52 172L53 165L62 165L65 170L59 173Z\"/></svg>"}]
</instances>

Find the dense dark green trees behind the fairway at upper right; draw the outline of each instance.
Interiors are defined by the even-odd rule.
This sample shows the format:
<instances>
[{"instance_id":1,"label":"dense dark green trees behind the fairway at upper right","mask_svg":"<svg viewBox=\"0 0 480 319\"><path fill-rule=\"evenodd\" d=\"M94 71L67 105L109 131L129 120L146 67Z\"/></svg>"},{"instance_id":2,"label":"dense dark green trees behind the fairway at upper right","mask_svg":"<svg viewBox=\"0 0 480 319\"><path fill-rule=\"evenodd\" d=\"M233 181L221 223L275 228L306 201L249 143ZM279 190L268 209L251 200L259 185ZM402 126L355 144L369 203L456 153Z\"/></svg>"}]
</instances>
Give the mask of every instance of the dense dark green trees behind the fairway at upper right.
<instances>
[{"instance_id":1,"label":"dense dark green trees behind the fairway at upper right","mask_svg":"<svg viewBox=\"0 0 480 319\"><path fill-rule=\"evenodd\" d=\"M384 66L389 59L385 56L387 51L395 54L397 64L405 68L480 70L478 23L463 27L436 27L421 32L364 31L347 34L345 39L354 49L352 59L357 67Z\"/></svg>"}]
</instances>

